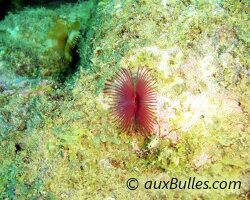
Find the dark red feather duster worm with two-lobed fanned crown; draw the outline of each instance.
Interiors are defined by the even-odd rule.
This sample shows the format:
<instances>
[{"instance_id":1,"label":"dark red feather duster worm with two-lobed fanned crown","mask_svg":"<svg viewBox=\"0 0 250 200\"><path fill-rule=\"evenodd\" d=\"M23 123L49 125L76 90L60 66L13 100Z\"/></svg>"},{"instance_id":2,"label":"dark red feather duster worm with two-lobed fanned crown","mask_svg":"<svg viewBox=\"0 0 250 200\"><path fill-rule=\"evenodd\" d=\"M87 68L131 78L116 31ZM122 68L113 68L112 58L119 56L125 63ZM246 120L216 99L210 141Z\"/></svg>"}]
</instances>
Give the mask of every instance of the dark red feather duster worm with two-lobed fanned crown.
<instances>
[{"instance_id":1,"label":"dark red feather duster worm with two-lobed fanned crown","mask_svg":"<svg viewBox=\"0 0 250 200\"><path fill-rule=\"evenodd\" d=\"M134 80L130 69L122 68L112 80L108 79L104 93L112 98L111 115L123 131L138 130L147 136L154 130L156 92L150 70L138 68Z\"/></svg>"}]
</instances>

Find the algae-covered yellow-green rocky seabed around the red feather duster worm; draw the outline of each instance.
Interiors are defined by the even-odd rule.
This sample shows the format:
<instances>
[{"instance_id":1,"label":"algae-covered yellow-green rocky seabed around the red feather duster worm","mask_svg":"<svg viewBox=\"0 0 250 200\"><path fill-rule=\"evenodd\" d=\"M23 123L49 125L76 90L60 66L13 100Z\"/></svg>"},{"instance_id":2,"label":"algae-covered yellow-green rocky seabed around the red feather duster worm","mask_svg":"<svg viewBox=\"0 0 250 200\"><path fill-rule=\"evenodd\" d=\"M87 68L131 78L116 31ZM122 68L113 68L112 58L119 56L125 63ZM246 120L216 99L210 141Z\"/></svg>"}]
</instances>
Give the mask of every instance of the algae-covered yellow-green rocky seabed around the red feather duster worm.
<instances>
[{"instance_id":1,"label":"algae-covered yellow-green rocky seabed around the red feather duster worm","mask_svg":"<svg viewBox=\"0 0 250 200\"><path fill-rule=\"evenodd\" d=\"M0 197L247 199L247 8L246 1L100 0L5 16ZM138 66L157 82L157 127L148 139L110 120L103 93L121 68ZM241 187L147 182L190 177ZM134 191L129 178L139 182Z\"/></svg>"}]
</instances>

